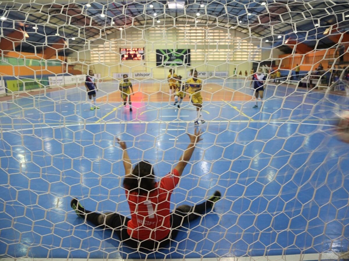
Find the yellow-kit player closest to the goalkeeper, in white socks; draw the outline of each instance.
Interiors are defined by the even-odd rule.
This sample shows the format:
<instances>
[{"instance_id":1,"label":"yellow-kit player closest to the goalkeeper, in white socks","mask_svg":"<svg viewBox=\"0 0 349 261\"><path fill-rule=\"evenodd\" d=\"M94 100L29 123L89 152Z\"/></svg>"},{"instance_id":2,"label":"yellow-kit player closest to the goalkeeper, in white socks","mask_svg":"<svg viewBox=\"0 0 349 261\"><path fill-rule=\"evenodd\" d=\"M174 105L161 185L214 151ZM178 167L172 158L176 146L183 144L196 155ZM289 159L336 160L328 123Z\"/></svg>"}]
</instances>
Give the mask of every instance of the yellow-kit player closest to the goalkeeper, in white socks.
<instances>
[{"instance_id":1,"label":"yellow-kit player closest to the goalkeeper, in white socks","mask_svg":"<svg viewBox=\"0 0 349 261\"><path fill-rule=\"evenodd\" d=\"M202 88L202 80L198 79L198 72L196 70L193 71L193 77L188 79L185 82L186 90L190 94L190 100L193 105L196 107L196 119L194 125L199 125L199 120L201 119L201 108L202 108L202 96L201 96L201 88ZM205 121L201 119L201 123Z\"/></svg>"}]
</instances>

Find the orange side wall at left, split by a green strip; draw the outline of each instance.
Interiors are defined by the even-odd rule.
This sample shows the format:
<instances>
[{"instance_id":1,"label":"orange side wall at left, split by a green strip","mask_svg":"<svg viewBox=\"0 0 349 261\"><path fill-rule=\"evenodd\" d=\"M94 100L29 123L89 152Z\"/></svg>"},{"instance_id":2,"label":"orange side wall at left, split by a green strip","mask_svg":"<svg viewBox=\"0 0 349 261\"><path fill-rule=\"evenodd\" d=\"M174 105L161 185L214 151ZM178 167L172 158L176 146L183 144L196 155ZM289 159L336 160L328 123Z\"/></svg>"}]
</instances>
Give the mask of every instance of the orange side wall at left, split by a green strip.
<instances>
[{"instance_id":1,"label":"orange side wall at left, split by a green strip","mask_svg":"<svg viewBox=\"0 0 349 261\"><path fill-rule=\"evenodd\" d=\"M26 59L42 59L42 54L25 53L25 52L8 52L4 57L14 58L26 58ZM64 56L58 56L57 59L64 61ZM34 76L40 78L41 75L45 74L58 74L67 72L66 66L47 66L47 70L43 66L12 66L12 65L0 65L0 75L2 76Z\"/></svg>"}]
</instances>

